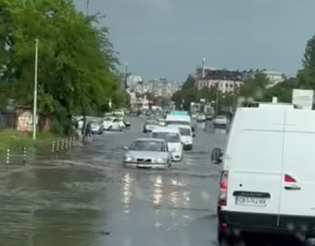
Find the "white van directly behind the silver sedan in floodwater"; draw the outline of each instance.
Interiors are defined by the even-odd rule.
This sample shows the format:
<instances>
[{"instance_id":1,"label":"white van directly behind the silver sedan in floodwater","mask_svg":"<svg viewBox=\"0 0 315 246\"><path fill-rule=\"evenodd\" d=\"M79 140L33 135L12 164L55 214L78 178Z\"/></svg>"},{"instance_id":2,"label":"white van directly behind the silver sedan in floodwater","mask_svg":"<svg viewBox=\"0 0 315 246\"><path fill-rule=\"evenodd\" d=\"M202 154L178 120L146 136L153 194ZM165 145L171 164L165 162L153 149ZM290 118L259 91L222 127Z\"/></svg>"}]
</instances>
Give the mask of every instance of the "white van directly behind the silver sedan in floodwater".
<instances>
[{"instance_id":1,"label":"white van directly behind the silver sedan in floodwater","mask_svg":"<svg viewBox=\"0 0 315 246\"><path fill-rule=\"evenodd\" d=\"M181 136L178 128L175 127L157 127L151 137L165 139L170 152L172 152L173 161L181 161L183 147L181 144Z\"/></svg>"}]
</instances>

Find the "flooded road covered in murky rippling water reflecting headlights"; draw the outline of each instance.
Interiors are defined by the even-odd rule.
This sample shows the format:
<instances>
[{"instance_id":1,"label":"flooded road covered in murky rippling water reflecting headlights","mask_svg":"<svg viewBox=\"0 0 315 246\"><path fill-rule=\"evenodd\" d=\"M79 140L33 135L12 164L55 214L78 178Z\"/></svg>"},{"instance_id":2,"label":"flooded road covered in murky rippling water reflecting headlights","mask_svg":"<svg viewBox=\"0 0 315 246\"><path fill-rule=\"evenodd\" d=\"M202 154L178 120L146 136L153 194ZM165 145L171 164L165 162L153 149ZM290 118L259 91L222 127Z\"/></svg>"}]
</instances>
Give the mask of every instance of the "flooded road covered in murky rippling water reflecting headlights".
<instances>
[{"instance_id":1,"label":"flooded road covered in murky rippling water reflecting headlights","mask_svg":"<svg viewBox=\"0 0 315 246\"><path fill-rule=\"evenodd\" d=\"M93 136L58 157L1 169L0 245L217 245L220 167L210 154L227 134L199 124L193 151L171 169L123 168L123 147L146 135L143 119L129 120L131 129Z\"/></svg>"}]
</instances>

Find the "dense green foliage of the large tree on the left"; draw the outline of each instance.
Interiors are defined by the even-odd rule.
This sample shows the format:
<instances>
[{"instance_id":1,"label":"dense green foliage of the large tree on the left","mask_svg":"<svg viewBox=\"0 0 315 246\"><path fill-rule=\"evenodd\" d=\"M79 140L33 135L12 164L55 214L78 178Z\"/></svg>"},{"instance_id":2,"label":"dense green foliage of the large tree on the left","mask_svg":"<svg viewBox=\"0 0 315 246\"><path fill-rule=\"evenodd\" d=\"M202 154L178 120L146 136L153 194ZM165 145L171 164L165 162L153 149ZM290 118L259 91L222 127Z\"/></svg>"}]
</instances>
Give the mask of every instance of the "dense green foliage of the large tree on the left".
<instances>
[{"instance_id":1,"label":"dense green foliage of the large tree on the left","mask_svg":"<svg viewBox=\"0 0 315 246\"><path fill-rule=\"evenodd\" d=\"M98 15L76 11L71 0L0 0L0 93L33 103L38 39L41 114L98 114L109 98L118 107L127 103L108 30L96 27L97 21Z\"/></svg>"}]
</instances>

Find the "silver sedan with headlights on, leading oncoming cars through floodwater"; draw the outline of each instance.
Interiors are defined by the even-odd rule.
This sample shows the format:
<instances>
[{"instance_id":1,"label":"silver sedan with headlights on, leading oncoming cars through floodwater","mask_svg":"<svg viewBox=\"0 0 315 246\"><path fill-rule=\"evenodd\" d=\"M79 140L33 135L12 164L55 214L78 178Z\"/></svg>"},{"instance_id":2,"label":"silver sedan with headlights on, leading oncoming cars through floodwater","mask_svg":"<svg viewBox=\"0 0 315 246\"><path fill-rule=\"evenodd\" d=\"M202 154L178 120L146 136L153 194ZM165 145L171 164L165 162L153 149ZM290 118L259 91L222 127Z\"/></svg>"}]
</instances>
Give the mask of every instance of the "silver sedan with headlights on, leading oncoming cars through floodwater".
<instances>
[{"instance_id":1,"label":"silver sedan with headlights on, leading oncoming cars through floodwater","mask_svg":"<svg viewBox=\"0 0 315 246\"><path fill-rule=\"evenodd\" d=\"M167 169L172 165L172 155L164 139L138 138L124 149L127 150L123 158L124 166Z\"/></svg>"}]
</instances>

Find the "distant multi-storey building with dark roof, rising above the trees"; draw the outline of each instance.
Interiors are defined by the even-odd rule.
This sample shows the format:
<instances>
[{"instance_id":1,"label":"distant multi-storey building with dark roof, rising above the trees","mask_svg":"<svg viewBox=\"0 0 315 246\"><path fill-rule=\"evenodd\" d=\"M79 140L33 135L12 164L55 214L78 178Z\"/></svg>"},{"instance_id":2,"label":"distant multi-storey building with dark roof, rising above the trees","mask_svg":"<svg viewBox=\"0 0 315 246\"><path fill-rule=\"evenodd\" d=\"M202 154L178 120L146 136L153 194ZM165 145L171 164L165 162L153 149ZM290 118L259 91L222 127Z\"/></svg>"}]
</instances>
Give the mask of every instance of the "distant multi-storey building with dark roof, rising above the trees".
<instances>
[{"instance_id":1,"label":"distant multi-storey building with dark roof, rising above the trees","mask_svg":"<svg viewBox=\"0 0 315 246\"><path fill-rule=\"evenodd\" d=\"M207 71L203 78L196 78L196 86L199 90L204 87L217 87L222 93L235 93L243 84L243 78L239 71L211 70Z\"/></svg>"}]
</instances>

